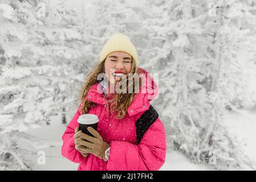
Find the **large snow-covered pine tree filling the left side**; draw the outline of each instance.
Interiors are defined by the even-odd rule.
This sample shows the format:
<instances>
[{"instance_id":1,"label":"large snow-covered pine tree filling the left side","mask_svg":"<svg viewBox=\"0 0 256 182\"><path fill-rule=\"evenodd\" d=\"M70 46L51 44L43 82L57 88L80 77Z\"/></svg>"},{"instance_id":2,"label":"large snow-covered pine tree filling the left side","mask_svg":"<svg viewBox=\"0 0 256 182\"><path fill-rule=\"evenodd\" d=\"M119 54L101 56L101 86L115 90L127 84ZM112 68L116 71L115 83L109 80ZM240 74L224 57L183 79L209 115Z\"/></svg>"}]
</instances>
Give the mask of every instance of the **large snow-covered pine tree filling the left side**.
<instances>
[{"instance_id":1,"label":"large snow-covered pine tree filling the left side","mask_svg":"<svg viewBox=\"0 0 256 182\"><path fill-rule=\"evenodd\" d=\"M77 74L85 57L80 24L75 11L60 2L51 7L49 1L1 1L0 14L1 60L5 61L0 76L0 166L29 169L19 153L17 136L40 147L42 143L32 142L34 137L22 132L49 125L50 117L63 106L72 107L71 101L63 101L75 97L74 89L83 80L83 74Z\"/></svg>"}]
</instances>

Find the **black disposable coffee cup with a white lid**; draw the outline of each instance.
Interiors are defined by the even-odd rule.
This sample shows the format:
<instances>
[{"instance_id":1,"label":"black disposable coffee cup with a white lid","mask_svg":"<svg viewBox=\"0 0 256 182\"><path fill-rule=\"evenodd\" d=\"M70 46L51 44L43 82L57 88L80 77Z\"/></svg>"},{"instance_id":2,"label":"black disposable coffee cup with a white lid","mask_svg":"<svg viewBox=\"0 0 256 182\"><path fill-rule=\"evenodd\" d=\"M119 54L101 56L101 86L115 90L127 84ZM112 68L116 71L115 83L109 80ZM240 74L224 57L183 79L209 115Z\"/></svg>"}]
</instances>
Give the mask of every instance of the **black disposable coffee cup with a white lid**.
<instances>
[{"instance_id":1,"label":"black disposable coffee cup with a white lid","mask_svg":"<svg viewBox=\"0 0 256 182\"><path fill-rule=\"evenodd\" d=\"M78 118L79 130L82 130L83 133L94 137L88 130L87 127L93 127L97 130L97 123L99 122L99 118L95 114L82 114Z\"/></svg>"}]
</instances>

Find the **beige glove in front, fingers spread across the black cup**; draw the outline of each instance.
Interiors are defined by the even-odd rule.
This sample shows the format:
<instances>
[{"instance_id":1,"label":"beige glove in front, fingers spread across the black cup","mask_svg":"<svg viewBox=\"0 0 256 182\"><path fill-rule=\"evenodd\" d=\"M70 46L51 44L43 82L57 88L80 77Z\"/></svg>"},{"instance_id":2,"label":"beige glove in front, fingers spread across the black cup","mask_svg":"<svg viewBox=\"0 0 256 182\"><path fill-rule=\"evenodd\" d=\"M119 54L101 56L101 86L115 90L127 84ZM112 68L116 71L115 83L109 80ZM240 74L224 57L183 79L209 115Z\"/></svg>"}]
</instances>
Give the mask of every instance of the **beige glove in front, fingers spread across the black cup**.
<instances>
[{"instance_id":1,"label":"beige glove in front, fingers spread across the black cup","mask_svg":"<svg viewBox=\"0 0 256 182\"><path fill-rule=\"evenodd\" d=\"M97 133L95 129L92 127L87 127L87 130L94 135L94 137L91 137L90 135L80 133L80 138L82 140L79 140L80 144L82 144L83 147L88 147L87 150L84 150L86 152L89 152L91 154L94 154L100 159L105 159L105 150L109 147L109 144L107 142L103 141L103 138L100 137L100 134ZM87 140L87 141L85 141Z\"/></svg>"}]
</instances>

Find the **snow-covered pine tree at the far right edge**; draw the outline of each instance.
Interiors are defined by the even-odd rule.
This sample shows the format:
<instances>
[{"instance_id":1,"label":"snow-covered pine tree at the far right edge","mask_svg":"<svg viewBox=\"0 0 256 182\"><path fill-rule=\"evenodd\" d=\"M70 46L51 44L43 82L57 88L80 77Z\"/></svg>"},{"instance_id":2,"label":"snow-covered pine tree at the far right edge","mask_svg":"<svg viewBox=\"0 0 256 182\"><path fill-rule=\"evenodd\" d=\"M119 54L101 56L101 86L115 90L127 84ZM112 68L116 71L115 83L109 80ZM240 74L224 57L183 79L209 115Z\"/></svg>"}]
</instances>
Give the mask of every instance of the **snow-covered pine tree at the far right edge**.
<instances>
[{"instance_id":1,"label":"snow-covered pine tree at the far right edge","mask_svg":"<svg viewBox=\"0 0 256 182\"><path fill-rule=\"evenodd\" d=\"M256 106L255 3L250 6L251 3L245 1L230 0L224 5L224 23L219 30L224 64L217 81L226 104L235 111L239 108L250 110Z\"/></svg>"}]
</instances>

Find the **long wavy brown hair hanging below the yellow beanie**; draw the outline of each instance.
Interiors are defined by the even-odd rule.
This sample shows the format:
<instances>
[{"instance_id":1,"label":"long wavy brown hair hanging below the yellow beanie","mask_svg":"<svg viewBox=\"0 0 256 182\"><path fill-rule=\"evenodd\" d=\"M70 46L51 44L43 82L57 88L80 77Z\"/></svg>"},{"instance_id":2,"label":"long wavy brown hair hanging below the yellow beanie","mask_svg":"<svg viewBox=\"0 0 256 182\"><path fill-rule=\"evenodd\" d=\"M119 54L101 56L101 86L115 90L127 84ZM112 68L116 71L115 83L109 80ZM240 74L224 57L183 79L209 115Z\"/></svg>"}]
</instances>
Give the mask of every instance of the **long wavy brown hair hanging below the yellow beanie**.
<instances>
[{"instance_id":1,"label":"long wavy brown hair hanging below the yellow beanie","mask_svg":"<svg viewBox=\"0 0 256 182\"><path fill-rule=\"evenodd\" d=\"M94 107L96 104L94 102L86 100L86 96L88 91L90 90L91 86L96 84L97 82L100 82L101 80L97 80L97 76L100 73L105 73L105 67L104 67L105 60L101 63L97 64L94 70L88 75L87 80L83 86L83 88L79 92L79 98L78 100L82 101L82 106L80 107L82 114L87 114L89 110ZM129 105L131 105L133 101L133 97L136 93L139 92L138 89L141 88L141 78L137 77L139 73L137 73L137 65L135 64L135 61L132 57L132 69L131 73L133 73L133 77L126 77L126 79L120 80L119 84L121 85L122 81L126 81L127 83L127 93L107 93L104 94L104 98L108 101L107 108L113 114L114 111L116 111L116 118L121 119L124 118L127 112L127 108ZM137 74L135 74L137 73ZM129 81L129 79L132 79L132 81ZM139 82L136 82L137 81ZM139 83L139 87L135 86ZM133 88L132 93L128 93L128 88L131 86ZM121 87L120 87L121 88Z\"/></svg>"}]
</instances>

